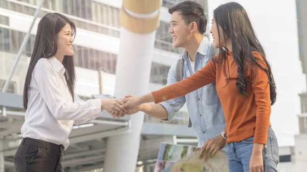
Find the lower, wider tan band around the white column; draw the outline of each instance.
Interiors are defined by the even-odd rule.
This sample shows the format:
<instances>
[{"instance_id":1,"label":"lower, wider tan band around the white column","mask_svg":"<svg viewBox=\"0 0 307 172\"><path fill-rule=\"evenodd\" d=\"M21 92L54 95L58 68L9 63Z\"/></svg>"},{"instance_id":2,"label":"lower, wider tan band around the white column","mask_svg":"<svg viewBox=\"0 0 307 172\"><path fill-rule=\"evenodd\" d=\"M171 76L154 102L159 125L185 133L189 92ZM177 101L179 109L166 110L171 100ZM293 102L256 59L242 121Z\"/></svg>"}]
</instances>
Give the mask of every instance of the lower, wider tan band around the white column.
<instances>
[{"instance_id":1,"label":"lower, wider tan band around the white column","mask_svg":"<svg viewBox=\"0 0 307 172\"><path fill-rule=\"evenodd\" d=\"M159 12L157 13L157 15L153 17L137 18L129 15L124 8L125 7L123 6L120 10L120 23L121 26L127 29L128 31L134 33L146 34L157 30L157 28L159 27L159 21L160 21Z\"/></svg>"}]
</instances>

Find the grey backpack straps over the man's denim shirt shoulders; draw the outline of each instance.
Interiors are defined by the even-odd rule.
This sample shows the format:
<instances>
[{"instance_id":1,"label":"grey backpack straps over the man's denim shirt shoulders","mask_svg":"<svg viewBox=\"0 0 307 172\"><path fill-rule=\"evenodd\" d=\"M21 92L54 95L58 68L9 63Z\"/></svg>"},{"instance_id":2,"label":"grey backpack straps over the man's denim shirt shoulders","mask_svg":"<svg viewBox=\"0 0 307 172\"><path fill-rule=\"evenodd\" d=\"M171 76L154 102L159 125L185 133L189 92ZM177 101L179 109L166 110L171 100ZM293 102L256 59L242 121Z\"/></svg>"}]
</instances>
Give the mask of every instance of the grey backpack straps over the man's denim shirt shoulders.
<instances>
[{"instance_id":1,"label":"grey backpack straps over the man's denim shirt shoulders","mask_svg":"<svg viewBox=\"0 0 307 172\"><path fill-rule=\"evenodd\" d=\"M209 55L209 60L211 60L215 55L218 54L218 49L215 49L213 46L213 43L210 45L209 52L207 53L207 56ZM183 64L184 64L184 59L180 59L177 61L176 65L176 80L177 82L183 80ZM192 127L192 122L191 118L189 117L189 128Z\"/></svg>"}]
</instances>

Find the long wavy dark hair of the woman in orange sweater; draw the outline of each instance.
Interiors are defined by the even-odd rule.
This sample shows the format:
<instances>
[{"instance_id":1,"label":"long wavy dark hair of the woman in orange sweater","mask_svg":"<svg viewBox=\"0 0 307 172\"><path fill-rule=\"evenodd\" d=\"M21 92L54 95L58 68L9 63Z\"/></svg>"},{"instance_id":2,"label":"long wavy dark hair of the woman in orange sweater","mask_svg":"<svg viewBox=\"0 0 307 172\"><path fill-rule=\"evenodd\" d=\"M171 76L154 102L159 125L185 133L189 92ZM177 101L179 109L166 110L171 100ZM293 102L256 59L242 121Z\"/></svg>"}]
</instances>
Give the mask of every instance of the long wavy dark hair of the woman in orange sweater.
<instances>
[{"instance_id":1,"label":"long wavy dark hair of the woman in orange sweater","mask_svg":"<svg viewBox=\"0 0 307 172\"><path fill-rule=\"evenodd\" d=\"M240 4L231 2L217 7L213 11L213 16L215 19L215 23L221 26L221 28L223 29L221 33L223 33L224 38L225 35L227 35L231 39L233 60L238 66L238 78L236 80L236 88L240 91L241 94L247 96L247 82L250 82L254 77L254 64L264 70L268 75L268 83L270 84L270 99L271 105L273 105L276 101L276 85L273 78L271 66L266 58L264 48L260 44L255 34L255 31L252 27L252 24L245 9ZM218 26L217 31L218 36L221 38ZM221 45L221 40L218 41L220 41ZM226 39L224 41L226 42ZM252 53L254 51L258 52L264 60L255 58ZM222 60L227 59L227 56L227 47L226 51L223 51L222 48L220 48L220 55L214 61L221 62ZM262 65L260 65L259 62L261 62ZM246 63L252 69L252 76L247 76L246 74ZM267 66L267 68L265 67L265 65ZM225 72L225 66L222 67L224 68L223 70ZM227 77L227 80L229 81L229 77Z\"/></svg>"}]
</instances>

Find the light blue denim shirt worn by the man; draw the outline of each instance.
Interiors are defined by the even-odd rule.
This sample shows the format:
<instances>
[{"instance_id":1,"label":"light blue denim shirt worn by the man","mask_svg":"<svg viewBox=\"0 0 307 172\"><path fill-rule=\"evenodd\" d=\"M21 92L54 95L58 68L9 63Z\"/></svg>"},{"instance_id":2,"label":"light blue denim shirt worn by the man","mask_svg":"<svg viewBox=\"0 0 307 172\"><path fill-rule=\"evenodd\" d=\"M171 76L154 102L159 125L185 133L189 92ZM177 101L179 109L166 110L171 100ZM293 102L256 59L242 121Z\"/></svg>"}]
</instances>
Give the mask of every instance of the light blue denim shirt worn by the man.
<instances>
[{"instance_id":1,"label":"light blue denim shirt worn by the man","mask_svg":"<svg viewBox=\"0 0 307 172\"><path fill-rule=\"evenodd\" d=\"M195 72L203 68L209 62L209 50L212 42L207 37L202 42L195 54ZM213 46L213 45L212 45ZM193 74L188 53L184 50L181 58L184 61L184 78ZM174 63L168 72L167 85L176 83L176 65ZM160 103L168 113L168 120L171 120L187 103L187 109L191 118L192 128L198 138L198 146L203 145L207 139L218 136L226 127L225 117L220 99L216 93L215 82L208 84L198 90L190 92L185 96L178 97ZM188 127L188 126L187 126Z\"/></svg>"}]
</instances>

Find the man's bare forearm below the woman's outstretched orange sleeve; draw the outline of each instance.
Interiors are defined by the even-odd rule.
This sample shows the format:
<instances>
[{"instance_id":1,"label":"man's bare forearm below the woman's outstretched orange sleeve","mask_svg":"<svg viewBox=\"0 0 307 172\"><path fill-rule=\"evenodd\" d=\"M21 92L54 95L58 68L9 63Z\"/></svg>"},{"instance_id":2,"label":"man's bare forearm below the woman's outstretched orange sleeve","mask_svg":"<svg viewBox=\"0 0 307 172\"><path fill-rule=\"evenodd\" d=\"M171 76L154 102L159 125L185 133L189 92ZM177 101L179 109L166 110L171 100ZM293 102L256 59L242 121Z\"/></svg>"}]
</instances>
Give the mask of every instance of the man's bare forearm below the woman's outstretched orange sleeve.
<instances>
[{"instance_id":1,"label":"man's bare forearm below the woman's outstretched orange sleeve","mask_svg":"<svg viewBox=\"0 0 307 172\"><path fill-rule=\"evenodd\" d=\"M168 119L166 109L160 104L145 103L140 105L140 111L158 119Z\"/></svg>"}]
</instances>

